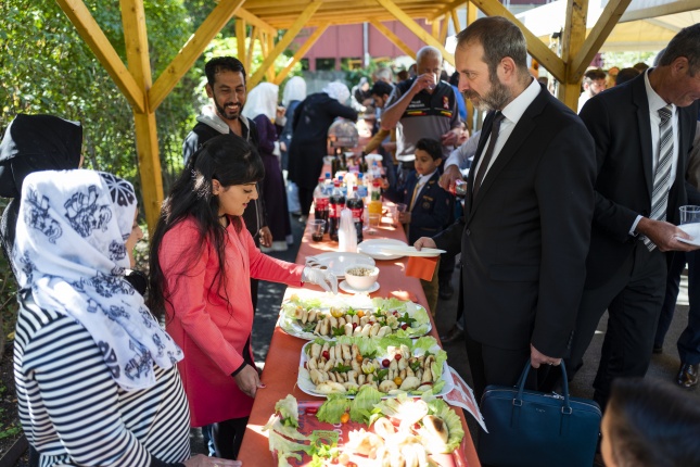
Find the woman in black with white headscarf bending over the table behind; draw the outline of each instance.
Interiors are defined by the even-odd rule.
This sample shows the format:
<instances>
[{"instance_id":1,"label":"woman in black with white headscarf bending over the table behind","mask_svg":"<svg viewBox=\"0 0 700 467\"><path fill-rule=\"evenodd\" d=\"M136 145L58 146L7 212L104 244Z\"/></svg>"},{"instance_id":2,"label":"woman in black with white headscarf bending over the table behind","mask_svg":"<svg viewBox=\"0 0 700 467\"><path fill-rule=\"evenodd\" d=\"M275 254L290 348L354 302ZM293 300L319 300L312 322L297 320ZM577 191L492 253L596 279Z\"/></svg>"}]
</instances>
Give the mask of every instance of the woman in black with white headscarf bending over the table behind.
<instances>
[{"instance_id":1,"label":"woman in black with white headscarf bending over the table behind","mask_svg":"<svg viewBox=\"0 0 700 467\"><path fill-rule=\"evenodd\" d=\"M294 112L289 179L298 186L304 222L311 209L314 188L327 155L328 129L336 117L357 121L357 112L346 105L349 96L349 89L343 83L329 83L322 92L307 97Z\"/></svg>"}]
</instances>

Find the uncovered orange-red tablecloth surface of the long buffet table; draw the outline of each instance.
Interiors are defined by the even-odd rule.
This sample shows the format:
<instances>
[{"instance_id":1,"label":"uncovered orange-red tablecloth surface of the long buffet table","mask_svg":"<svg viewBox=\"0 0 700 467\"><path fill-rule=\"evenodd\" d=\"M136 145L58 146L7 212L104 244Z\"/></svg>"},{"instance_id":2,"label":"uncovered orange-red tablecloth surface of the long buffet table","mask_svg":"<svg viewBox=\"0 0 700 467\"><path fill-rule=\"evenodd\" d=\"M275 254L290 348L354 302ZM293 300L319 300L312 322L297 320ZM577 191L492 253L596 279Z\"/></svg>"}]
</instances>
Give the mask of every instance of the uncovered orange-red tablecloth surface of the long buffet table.
<instances>
[{"instance_id":1,"label":"uncovered orange-red tablecloth surface of the long buffet table","mask_svg":"<svg viewBox=\"0 0 700 467\"><path fill-rule=\"evenodd\" d=\"M313 217L311 217L313 218ZM374 235L365 235L365 240L372 238L389 238L406 241L404 229L391 225L391 218L383 217L382 224ZM331 242L328 236L324 237L326 241L314 242L311 241L310 229L306 228L304 238L300 245L296 263L304 264L306 257L315 254L336 251L338 243ZM407 258L402 257L391 261L377 261L377 266L380 268L378 282L380 288L371 296L396 296L402 300L411 300L427 307L425 295L420 285L420 280L415 277L407 277L404 272L406 268ZM311 288L310 286L305 289ZM320 288L316 288L320 290ZM288 299L293 293L297 293L303 289L290 287L284 293L284 299ZM430 335L440 341L437 337L437 329L435 323L432 320L432 330ZM246 467L275 467L277 463L272 458L268 447L267 433L262 430L263 426L267 422L270 415L275 412L275 404L287 396L292 394L297 401L320 401L320 397L315 397L302 392L296 386L296 378L298 374L298 362L302 352L302 346L306 341L289 336L280 329L279 326L275 328L270 348L265 361L265 369L263 370L262 381L266 388L257 391L253 409L249 420L249 425L243 438L243 444L239 453L239 460L243 462ZM449 363L449 358L447 361ZM464 441L462 449L464 451L464 458L469 467L480 466L476 451L472 443L469 428L464 420L462 411L456 407L457 414L462 419L462 427L464 429Z\"/></svg>"}]
</instances>

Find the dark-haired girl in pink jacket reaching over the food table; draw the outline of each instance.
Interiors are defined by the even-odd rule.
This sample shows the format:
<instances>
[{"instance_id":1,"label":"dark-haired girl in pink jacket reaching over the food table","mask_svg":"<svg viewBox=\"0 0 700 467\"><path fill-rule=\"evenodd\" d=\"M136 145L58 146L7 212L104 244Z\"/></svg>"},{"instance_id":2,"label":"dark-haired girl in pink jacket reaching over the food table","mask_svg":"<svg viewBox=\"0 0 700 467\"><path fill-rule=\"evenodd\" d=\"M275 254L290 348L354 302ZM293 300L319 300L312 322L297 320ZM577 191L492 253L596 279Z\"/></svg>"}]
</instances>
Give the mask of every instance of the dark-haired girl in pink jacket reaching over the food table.
<instances>
[{"instance_id":1,"label":"dark-haired girl in pink jacket reaching over the food table","mask_svg":"<svg viewBox=\"0 0 700 467\"><path fill-rule=\"evenodd\" d=\"M236 135L207 141L163 203L151 243L152 310L184 352L178 364L192 426L213 425L217 457L236 458L260 383L251 352L250 278L338 291L329 273L269 257L242 214L265 176L257 151Z\"/></svg>"}]
</instances>

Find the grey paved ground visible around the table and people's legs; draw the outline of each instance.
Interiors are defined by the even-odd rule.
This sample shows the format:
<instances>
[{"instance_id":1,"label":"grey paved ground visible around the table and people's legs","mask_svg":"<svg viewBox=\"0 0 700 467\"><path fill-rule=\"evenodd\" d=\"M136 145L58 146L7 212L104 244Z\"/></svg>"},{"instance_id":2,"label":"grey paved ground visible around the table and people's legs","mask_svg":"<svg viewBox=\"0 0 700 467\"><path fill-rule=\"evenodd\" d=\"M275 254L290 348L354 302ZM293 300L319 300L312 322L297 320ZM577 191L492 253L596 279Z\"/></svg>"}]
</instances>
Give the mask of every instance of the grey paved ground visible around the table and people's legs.
<instances>
[{"instance_id":1,"label":"grey paved ground visible around the table and people's legs","mask_svg":"<svg viewBox=\"0 0 700 467\"><path fill-rule=\"evenodd\" d=\"M294 234L295 244L285 252L276 252L272 253L275 257L293 262L296 258L296 253L298 251L298 243L303 234L303 226L296 222L292 220L292 229ZM458 280L459 274L456 272L453 275L453 286L455 290L458 290ZM253 325L253 351L255 358L258 363L265 362L265 356L267 355L267 350L269 348L270 340L272 338L272 331L275 329L275 324L277 321L277 316L279 312L279 304L282 301L282 295L284 293L285 286L260 282L260 290L258 294L258 308L255 315L255 323ZM673 380L675 374L678 369L678 355L675 348L675 342L678 339L678 336L685 329L687 324L688 316L688 278L683 276L683 282L680 286L680 294L678 296L678 304L676 307L676 314L674 320L669 329L666 336L666 344L664 346L664 353L661 355L654 355L651 361L651 367L649 368L648 378L662 379L662 380ZM455 323L455 316L457 314L457 293L448 301L440 301L437 308L436 325L440 333L447 331ZM600 358L600 346L602 344L602 339L604 336L604 330L607 327L607 315L603 316L599 331L594 337L594 341L588 349L588 352L585 355L584 367L576 375L576 379L571 384L572 395L580 397L593 397L593 380L595 378L598 359ZM469 365L467 363L467 351L464 349L464 342L457 341L450 344L445 345L445 350L448 353L448 363L455 369L459 371L467 383L471 384L471 374L469 371ZM263 365L263 364L260 364ZM700 390L695 388L693 390L688 391L688 394L696 397L700 403ZM468 416L469 428L472 432L472 437L475 436L478 425ZM199 430L193 430L192 432L192 449L193 452L204 452L203 444L201 442L201 437Z\"/></svg>"}]
</instances>

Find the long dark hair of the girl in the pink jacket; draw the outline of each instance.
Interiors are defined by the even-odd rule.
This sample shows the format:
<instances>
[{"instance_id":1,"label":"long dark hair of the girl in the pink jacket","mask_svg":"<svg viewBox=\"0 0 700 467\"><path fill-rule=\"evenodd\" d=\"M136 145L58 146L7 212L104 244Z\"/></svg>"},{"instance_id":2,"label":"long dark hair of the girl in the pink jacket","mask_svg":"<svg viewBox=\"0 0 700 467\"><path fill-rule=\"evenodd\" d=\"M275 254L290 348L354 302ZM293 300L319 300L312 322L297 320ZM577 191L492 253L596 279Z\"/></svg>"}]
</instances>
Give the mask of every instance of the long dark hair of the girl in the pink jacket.
<instances>
[{"instance_id":1,"label":"long dark hair of the girl in the pink jacket","mask_svg":"<svg viewBox=\"0 0 700 467\"><path fill-rule=\"evenodd\" d=\"M173 272L178 276L187 275L192 263L202 254L205 240L216 249L219 269L209 287L225 296L226 267L226 228L219 223L219 198L212 194L213 181L218 180L222 187L257 182L265 176L265 166L255 148L233 134L221 135L205 142L188 161L180 177L173 185L170 194L163 202L161 217L151 240L150 295L149 307L157 316L163 316L165 302L165 275L161 268L158 251L165 234L177 223L191 218L199 229L199 249L193 249L189 257L179 263L180 270ZM230 220L240 231L243 224L238 216Z\"/></svg>"}]
</instances>

